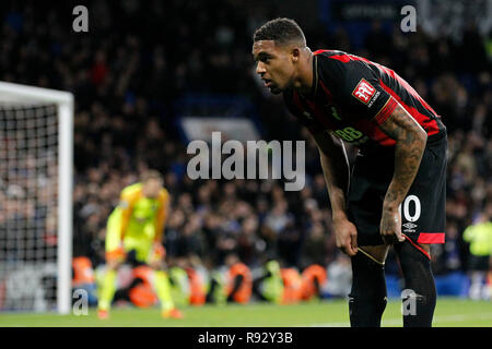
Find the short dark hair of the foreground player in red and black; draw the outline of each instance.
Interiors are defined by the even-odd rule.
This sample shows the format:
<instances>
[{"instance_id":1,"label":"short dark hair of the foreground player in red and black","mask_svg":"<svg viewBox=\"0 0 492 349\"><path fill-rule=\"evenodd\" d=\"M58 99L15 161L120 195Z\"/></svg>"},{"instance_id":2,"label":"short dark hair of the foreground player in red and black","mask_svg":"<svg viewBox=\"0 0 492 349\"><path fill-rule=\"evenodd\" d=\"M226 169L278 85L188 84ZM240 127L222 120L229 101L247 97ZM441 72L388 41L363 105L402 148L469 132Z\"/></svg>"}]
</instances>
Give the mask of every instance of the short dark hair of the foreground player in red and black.
<instances>
[{"instance_id":1,"label":"short dark hair of the foreground player in red and black","mask_svg":"<svg viewBox=\"0 0 492 349\"><path fill-rule=\"evenodd\" d=\"M273 40L276 44L285 45L293 41L306 46L304 33L291 19L274 19L256 29L253 40Z\"/></svg>"}]
</instances>

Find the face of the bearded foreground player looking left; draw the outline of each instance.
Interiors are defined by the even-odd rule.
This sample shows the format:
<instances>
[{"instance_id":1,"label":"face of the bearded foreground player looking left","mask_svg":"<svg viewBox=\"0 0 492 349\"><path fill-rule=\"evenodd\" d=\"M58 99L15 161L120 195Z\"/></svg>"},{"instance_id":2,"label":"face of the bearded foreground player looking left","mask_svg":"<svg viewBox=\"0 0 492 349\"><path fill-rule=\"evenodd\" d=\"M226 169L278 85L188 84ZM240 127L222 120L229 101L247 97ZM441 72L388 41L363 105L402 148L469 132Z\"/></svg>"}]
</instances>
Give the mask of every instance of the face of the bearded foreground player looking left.
<instances>
[{"instance_id":1,"label":"face of the bearded foreground player looking left","mask_svg":"<svg viewBox=\"0 0 492 349\"><path fill-rule=\"evenodd\" d=\"M258 40L253 44L253 57L257 62L256 73L272 94L280 94L292 85L295 65L290 47L276 46L273 40Z\"/></svg>"}]
</instances>

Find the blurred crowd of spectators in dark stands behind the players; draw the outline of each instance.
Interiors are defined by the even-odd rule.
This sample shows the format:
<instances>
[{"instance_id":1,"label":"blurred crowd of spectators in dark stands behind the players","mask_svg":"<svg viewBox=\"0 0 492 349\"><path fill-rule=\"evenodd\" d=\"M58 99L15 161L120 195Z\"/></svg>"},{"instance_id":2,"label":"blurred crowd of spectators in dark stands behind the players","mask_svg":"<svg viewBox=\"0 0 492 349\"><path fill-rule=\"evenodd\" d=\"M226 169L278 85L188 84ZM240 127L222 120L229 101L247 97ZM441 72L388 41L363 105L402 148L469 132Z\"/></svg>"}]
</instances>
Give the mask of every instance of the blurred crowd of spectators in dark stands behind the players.
<instances>
[{"instance_id":1,"label":"blurred crowd of spectators in dark stands behind the players","mask_svg":"<svg viewBox=\"0 0 492 349\"><path fill-rule=\"evenodd\" d=\"M154 168L173 197L165 232L171 260L192 256L221 266L234 252L250 267L269 256L300 269L343 263L316 146L254 76L253 31L281 13L273 3L94 1L90 32L80 34L71 31L68 5L65 12L38 7L2 5L0 80L75 95L74 255L104 263L106 220L121 189ZM490 35L470 25L458 40L374 23L364 45L354 47L342 26L328 31L316 22L306 38L312 49L344 50L394 69L442 116L448 130L447 230L446 243L432 251L434 273L467 272L462 233L479 214L492 218ZM190 180L174 104L188 93L246 96L265 140L306 140L306 186L284 192L278 180Z\"/></svg>"}]
</instances>

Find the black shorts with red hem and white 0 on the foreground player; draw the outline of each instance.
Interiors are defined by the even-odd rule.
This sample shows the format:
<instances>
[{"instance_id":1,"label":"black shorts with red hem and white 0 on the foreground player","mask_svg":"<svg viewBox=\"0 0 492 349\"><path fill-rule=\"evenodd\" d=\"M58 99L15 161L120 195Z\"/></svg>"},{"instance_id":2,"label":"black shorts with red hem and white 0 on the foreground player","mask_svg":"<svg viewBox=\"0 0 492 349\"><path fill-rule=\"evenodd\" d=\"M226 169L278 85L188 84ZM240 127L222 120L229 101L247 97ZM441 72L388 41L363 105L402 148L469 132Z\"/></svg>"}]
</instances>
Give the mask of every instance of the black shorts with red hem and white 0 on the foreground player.
<instances>
[{"instance_id":1,"label":"black shorts with red hem and white 0 on the foreground player","mask_svg":"<svg viewBox=\"0 0 492 349\"><path fill-rule=\"evenodd\" d=\"M446 149L443 132L430 136L417 177L400 206L401 232L418 243L444 243L446 224ZM383 244L383 202L391 182L395 149L358 155L349 190L349 219L358 228L358 244Z\"/></svg>"}]
</instances>

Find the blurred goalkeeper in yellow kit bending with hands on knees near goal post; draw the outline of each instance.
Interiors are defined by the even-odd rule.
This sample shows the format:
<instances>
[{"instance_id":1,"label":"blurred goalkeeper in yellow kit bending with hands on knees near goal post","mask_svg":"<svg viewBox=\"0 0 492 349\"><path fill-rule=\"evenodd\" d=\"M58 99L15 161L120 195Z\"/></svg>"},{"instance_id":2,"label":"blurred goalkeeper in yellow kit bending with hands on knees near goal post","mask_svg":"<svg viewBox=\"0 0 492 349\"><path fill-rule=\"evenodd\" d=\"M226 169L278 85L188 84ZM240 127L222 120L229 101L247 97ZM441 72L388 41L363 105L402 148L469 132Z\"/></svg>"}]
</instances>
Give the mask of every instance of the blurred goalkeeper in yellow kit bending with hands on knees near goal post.
<instances>
[{"instance_id":1,"label":"blurred goalkeeper in yellow kit bending with hands on knees near goal post","mask_svg":"<svg viewBox=\"0 0 492 349\"><path fill-rule=\"evenodd\" d=\"M121 191L120 202L112 212L106 228L106 274L104 276L97 316L107 318L116 291L118 267L130 256L138 264L153 268L152 287L161 302L162 316L181 318L171 297L169 279L164 272L165 249L162 244L169 194L163 178L155 170L147 171L141 182Z\"/></svg>"}]
</instances>

